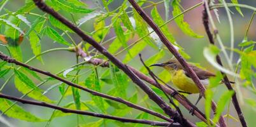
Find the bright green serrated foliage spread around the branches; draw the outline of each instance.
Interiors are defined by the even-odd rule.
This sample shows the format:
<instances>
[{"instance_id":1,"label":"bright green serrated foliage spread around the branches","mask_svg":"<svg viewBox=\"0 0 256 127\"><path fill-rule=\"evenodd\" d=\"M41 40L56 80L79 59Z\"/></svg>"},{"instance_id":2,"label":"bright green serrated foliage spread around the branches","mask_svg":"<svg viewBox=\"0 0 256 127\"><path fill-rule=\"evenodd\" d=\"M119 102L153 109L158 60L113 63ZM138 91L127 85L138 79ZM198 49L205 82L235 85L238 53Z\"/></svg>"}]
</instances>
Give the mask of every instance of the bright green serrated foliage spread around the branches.
<instances>
[{"instance_id":1,"label":"bright green serrated foliage spread around the branches","mask_svg":"<svg viewBox=\"0 0 256 127\"><path fill-rule=\"evenodd\" d=\"M5 3L6 1L2 1L1 4ZM87 4L82 3L79 0L45 0L48 6L52 7L54 10L59 11L60 13L71 13L71 17L73 23L76 24L78 27L83 28L83 25L89 23L89 20L93 19L94 22L94 31L88 32L97 42L100 44L108 44L108 51L110 53L115 54L116 56L123 51L127 51L125 53L124 59L122 60L124 63L131 62L141 51L145 50L145 48L153 50L157 53L152 57L148 58L145 63L146 65L157 63L161 58L165 57L166 49L163 48L162 42L160 41L159 37L153 32L152 29L146 25L143 19L139 16L139 14L135 11L127 11L131 9L127 5L127 1L124 1L117 9L111 10L109 8L110 4L113 1L106 1L103 0L101 3L99 1L94 1L94 4L97 8L93 9L87 6ZM164 20L157 10L157 4L164 2L164 6L166 8L166 19ZM234 1L234 3L237 1ZM139 1L140 5L151 3L149 1ZM176 49L179 53L185 57L190 58L187 53L185 53L184 49L178 44L175 37L171 34L171 30L168 29L167 21L169 20L168 15L169 8L173 8L173 19L174 22L178 25L181 31L190 37L202 38L199 34L196 34L187 22L184 21L183 15L183 8L180 5L179 0L174 0L172 3L170 1L160 1L159 3L150 4L152 6L151 16L153 21L160 26L160 29L167 37L167 39L176 46ZM150 6L145 6L148 8ZM0 40L4 43L4 46L8 48L10 51L11 57L17 59L20 62L23 62L22 58L22 50L20 48L20 44L22 44L21 37L29 40L31 44L32 53L34 54L34 58L37 58L43 64L43 58L41 55L44 53L41 51L41 39L43 37L49 37L54 42L62 44L69 50L69 47L76 46L76 42L72 39L69 34L73 34L73 31L66 27L66 25L62 24L58 20L56 20L51 15L38 13L36 10L36 6L34 5L33 1L26 0L25 5L20 7L17 11L9 11L4 9L6 12L4 15L0 16L0 23L1 27L4 28L3 35L0 36ZM241 10L237 8L239 13ZM34 13L36 12L36 13ZM74 15L78 15L77 19L74 18ZM66 15L67 17L69 15ZM28 17L36 17L35 20L29 21ZM107 25L107 21L110 20L110 24ZM171 21L171 20L169 20ZM168 22L169 22L168 21ZM107 40L107 36L110 35L111 29L115 32L114 37ZM62 34L60 34L60 32ZM137 39L139 37L139 39ZM69 38L71 41L68 41ZM137 41L131 42L131 40L137 39ZM110 43L111 42L111 43ZM130 43L131 42L131 43ZM48 43L48 42L47 42ZM77 42L79 43L79 42ZM255 88L252 84L252 76L256 76L255 72L253 72L253 67L255 67L256 58L255 58L255 51L253 50L255 42L254 41L246 41L241 43L241 46L249 46L243 51L234 50L241 55L241 72L240 75L243 79L246 79L245 86L252 87L252 91L255 92ZM83 50L85 50L88 55L95 55L94 57L105 59L101 55L97 55L97 52L94 52L94 49L87 43L84 43ZM25 50L25 49L24 49ZM54 51L54 49L50 49ZM50 52L50 50L48 52ZM207 48L205 53L206 55L211 55L209 58L215 58L220 51L218 48L211 46ZM208 57L207 57L208 58ZM254 59L253 59L254 58ZM30 60L31 61L31 60ZM27 62L30 62L27 61ZM46 64L47 65L47 64ZM11 77L14 78L15 88L20 91L24 96L28 96L33 98L34 100L39 100L43 102L48 102L52 104L59 104L62 98L66 98L68 96L73 97L73 102L70 102L64 107L70 109L79 109L79 110L90 110L92 112L98 113L107 113L113 116L127 116L129 112L132 112L131 108L127 108L124 105L117 104L116 102L112 102L110 100L104 100L101 97L91 96L89 100L82 100L81 91L75 88L71 88L66 86L64 83L57 83L53 86L50 86L47 90L41 90L39 86L46 83L47 81L52 81L54 79L47 78L42 79L38 76L35 72L32 72L29 69L16 67L15 65L8 65L6 62L0 63L0 77L9 76L6 79L6 83L3 84L1 90L6 86L8 81L10 81ZM82 74L78 74L80 70L87 69L86 72L82 73L87 76L83 76ZM12 70L12 73L11 73ZM141 72L147 73L144 67L141 67ZM227 70L228 71L228 70ZM88 72L90 74L88 74ZM11 73L11 74L10 74ZM129 93L127 88L129 87L129 83L131 81L125 76L125 74L120 71L115 65L110 64L108 69L101 69L98 66L87 66L87 65L74 65L74 67L69 67L68 69L64 69L58 73L58 76L65 78L65 79L72 79L74 83L78 83L83 85L87 88L92 90L106 92L109 95L113 95L115 97L121 97L125 100L129 100L135 104L141 103L138 102L138 94L137 90L135 92ZM82 78L81 78L81 77ZM36 85L31 77L34 77L37 82L41 82ZM159 73L159 77L163 79L163 81L169 82L169 73L164 70ZM212 83L216 86L218 81L220 81L220 77L216 77L216 81ZM112 84L108 85L108 84ZM48 91L55 90L55 88L59 88L59 93L62 98L59 101L51 100L50 98L46 97L46 93ZM103 90L106 88L106 90ZM135 89L135 88L134 88ZM0 90L0 91L1 91ZM155 90L155 89L153 89ZM45 91L45 92L42 92ZM162 94L161 92L155 90L157 93ZM210 118L210 103L209 101L212 98L212 91L209 91L207 94L208 99L206 99L206 114L208 118ZM256 92L255 92L256 93ZM217 114L213 118L213 121L217 121L218 117L220 117L221 112L224 110L225 104L227 104L228 100L231 98L232 91L224 93L220 102L218 103ZM148 99L147 97L142 98L143 100ZM207 101L208 100L208 101ZM250 101L252 102L252 101ZM255 102L256 103L256 102ZM33 114L25 111L22 107L14 104L10 100L0 99L0 110L9 117L13 117L16 119L21 119L29 122L42 122L46 121L45 119L38 118ZM147 105L147 104L146 104ZM159 108L154 107L154 105L148 105L148 108L157 110L157 112L162 112ZM110 109L112 109L110 111ZM53 117L60 117L60 116L68 116L71 114L64 114L59 111L54 111L52 113L52 117L49 121L53 119ZM139 119L148 119L152 118L152 116L148 116L146 113L139 113L137 114L136 118ZM155 119L155 118L154 118ZM99 119L96 122L82 124L81 126L101 126L101 124L106 123L108 120ZM122 124L122 123L115 123L115 124ZM136 125L137 126L137 125Z\"/></svg>"}]
</instances>

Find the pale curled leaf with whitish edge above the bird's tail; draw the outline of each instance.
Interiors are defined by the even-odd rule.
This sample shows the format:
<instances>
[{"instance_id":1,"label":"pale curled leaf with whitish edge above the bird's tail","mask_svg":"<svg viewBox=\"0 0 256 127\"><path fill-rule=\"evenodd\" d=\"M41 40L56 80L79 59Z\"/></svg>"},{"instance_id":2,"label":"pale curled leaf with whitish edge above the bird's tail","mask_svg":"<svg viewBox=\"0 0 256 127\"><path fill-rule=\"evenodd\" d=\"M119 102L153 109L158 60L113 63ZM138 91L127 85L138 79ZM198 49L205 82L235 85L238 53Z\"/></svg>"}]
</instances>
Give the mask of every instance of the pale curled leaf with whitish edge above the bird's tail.
<instances>
[{"instance_id":1,"label":"pale curled leaf with whitish edge above the bird's tail","mask_svg":"<svg viewBox=\"0 0 256 127\"><path fill-rule=\"evenodd\" d=\"M219 52L220 50L217 48L217 46L211 44L209 47L204 48L204 58L206 58L206 60L208 60L208 62L210 62L210 64L213 65L213 67L215 67L216 69L221 70L222 72L225 72L232 76L238 76L238 74L232 72L231 70L225 69L216 62L215 58Z\"/></svg>"}]
</instances>

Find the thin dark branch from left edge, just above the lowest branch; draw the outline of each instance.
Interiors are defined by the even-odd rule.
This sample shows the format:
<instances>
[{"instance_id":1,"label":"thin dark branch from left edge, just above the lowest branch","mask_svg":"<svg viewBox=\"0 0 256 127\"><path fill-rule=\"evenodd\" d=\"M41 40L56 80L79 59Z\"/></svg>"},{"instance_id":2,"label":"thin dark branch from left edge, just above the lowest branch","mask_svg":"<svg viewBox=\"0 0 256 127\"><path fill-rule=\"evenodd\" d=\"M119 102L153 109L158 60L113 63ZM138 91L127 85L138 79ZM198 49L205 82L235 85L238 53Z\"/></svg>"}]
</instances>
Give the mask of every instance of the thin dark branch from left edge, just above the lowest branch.
<instances>
[{"instance_id":1,"label":"thin dark branch from left edge, just above the lowest branch","mask_svg":"<svg viewBox=\"0 0 256 127\"><path fill-rule=\"evenodd\" d=\"M80 86L78 84L75 84L73 82L70 82L70 81L67 81L66 79L62 79L61 77L58 77L54 74L51 74L50 72L45 72L43 70L39 70L39 69L36 69L34 67L31 67L29 65L26 65L26 64L23 64L21 62L18 62L17 60L15 60L14 58L10 58L6 55L4 55L3 53L1 53L0 51L0 58L6 62L9 62L9 63L13 63L13 64L16 64L16 65L20 65L22 67L26 67L27 69L30 69L30 70L33 70L35 72L39 72L41 74L45 74L46 76L50 76L50 77L53 77L54 79L57 79L63 83L66 83L68 84L69 86L73 86L75 88L78 88L80 90L83 90L83 91L87 91L89 93L91 93L92 95L95 95L95 96L99 96L99 97L103 97L103 98L108 98L110 100L114 100L116 102L120 102L122 104L125 104L127 105L128 107L132 107L134 109L138 109L138 110L142 110L143 112L147 112L148 114L152 114L153 116L157 116L157 117L160 117L162 119L165 119L166 121L169 121L169 122L173 122L172 119L169 119L168 117L166 116L163 116L162 114L159 114L157 112L154 112L153 110L150 110L150 109L146 109L145 107L141 107L139 105L136 105L136 104L132 104L131 102L128 102L127 100L123 100L122 98L118 98L118 97L113 97L113 96L110 96L110 95L106 95L104 93L100 93L98 91L94 91L94 90L90 90L89 88L85 88L83 86Z\"/></svg>"}]
</instances>

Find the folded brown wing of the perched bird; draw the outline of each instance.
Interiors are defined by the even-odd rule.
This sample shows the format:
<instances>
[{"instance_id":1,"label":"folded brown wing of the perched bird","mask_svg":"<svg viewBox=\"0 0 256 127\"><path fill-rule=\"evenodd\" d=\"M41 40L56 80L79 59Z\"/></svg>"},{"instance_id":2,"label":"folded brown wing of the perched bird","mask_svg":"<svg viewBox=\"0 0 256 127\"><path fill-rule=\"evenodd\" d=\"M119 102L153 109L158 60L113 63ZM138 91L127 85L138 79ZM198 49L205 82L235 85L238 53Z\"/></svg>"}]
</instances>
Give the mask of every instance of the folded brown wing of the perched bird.
<instances>
[{"instance_id":1,"label":"folded brown wing of the perched bird","mask_svg":"<svg viewBox=\"0 0 256 127\"><path fill-rule=\"evenodd\" d=\"M215 74L213 74L212 72L209 72L209 71L203 70L203 69L199 69L195 65L190 65L190 67L192 68L192 70L194 70L194 72L196 73L197 77L199 77L199 79L207 79L211 76L215 76ZM190 77L188 75L187 71L185 71L185 74L186 74L186 76Z\"/></svg>"}]
</instances>

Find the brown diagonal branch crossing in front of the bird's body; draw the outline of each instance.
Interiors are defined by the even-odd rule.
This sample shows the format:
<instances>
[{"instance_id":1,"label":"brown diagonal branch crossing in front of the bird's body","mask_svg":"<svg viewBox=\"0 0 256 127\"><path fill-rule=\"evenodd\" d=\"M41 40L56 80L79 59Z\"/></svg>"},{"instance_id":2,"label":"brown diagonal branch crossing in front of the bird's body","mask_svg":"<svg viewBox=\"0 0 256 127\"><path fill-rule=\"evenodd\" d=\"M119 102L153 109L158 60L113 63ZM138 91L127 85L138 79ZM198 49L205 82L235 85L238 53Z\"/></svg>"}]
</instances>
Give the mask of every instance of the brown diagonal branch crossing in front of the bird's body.
<instances>
[{"instance_id":1,"label":"brown diagonal branch crossing in front of the bird's body","mask_svg":"<svg viewBox=\"0 0 256 127\"><path fill-rule=\"evenodd\" d=\"M191 67L189 67L185 59L180 55L180 53L178 53L178 51L174 48L174 46L168 41L166 36L164 36L160 28L153 22L153 20L148 15L146 15L145 11L143 11L142 8L134 0L129 0L129 2L133 6L133 8L139 13L139 15L141 15L141 17L146 21L146 23L148 23L148 25L152 27L155 33L159 36L162 43L166 45L168 50L171 53L173 53L174 57L180 62L182 67L184 67L184 69L188 72L188 75L192 78L194 83L196 83L196 86L199 88L200 96L203 96L206 88L204 88L203 84L200 82L199 78L196 76L196 73L194 72L194 70L192 70ZM211 109L213 109L213 111L215 112L216 111L215 102L211 101L211 105L212 105ZM224 126L224 127L227 126L225 124L224 117L221 116L219 122L221 126Z\"/></svg>"}]
</instances>

